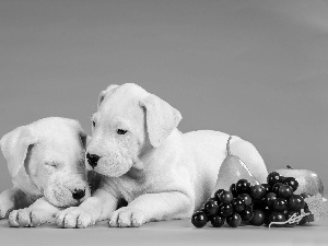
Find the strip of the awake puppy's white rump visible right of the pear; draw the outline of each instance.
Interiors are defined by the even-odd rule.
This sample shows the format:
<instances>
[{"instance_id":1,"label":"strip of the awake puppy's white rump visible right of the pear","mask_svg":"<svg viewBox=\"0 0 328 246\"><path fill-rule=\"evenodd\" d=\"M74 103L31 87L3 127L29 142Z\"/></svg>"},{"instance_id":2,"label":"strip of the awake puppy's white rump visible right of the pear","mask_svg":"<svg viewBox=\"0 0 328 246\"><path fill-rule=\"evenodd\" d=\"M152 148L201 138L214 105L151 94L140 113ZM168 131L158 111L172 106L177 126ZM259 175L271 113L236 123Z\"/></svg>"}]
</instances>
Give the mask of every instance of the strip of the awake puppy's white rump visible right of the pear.
<instances>
[{"instance_id":1,"label":"strip of the awake puppy's white rump visible right of the pear","mask_svg":"<svg viewBox=\"0 0 328 246\"><path fill-rule=\"evenodd\" d=\"M247 165L259 183L267 183L268 169L261 155L250 142L237 139L231 143L230 149L233 155L238 156Z\"/></svg>"}]
</instances>

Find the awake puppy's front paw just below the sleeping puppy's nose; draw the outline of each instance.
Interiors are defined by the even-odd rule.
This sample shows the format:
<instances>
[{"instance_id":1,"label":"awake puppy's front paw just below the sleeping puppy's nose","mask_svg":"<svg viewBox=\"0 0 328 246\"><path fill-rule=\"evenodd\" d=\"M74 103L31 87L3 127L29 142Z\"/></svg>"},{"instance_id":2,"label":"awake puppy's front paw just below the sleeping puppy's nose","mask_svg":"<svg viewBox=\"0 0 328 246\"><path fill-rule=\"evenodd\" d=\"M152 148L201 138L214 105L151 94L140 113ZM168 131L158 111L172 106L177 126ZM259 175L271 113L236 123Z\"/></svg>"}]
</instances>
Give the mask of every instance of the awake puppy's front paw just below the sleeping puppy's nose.
<instances>
[{"instance_id":1,"label":"awake puppy's front paw just below the sleeping puppy's nose","mask_svg":"<svg viewBox=\"0 0 328 246\"><path fill-rule=\"evenodd\" d=\"M91 214L83 209L71 207L57 214L56 224L62 229L85 229L94 225L95 222Z\"/></svg>"}]
</instances>

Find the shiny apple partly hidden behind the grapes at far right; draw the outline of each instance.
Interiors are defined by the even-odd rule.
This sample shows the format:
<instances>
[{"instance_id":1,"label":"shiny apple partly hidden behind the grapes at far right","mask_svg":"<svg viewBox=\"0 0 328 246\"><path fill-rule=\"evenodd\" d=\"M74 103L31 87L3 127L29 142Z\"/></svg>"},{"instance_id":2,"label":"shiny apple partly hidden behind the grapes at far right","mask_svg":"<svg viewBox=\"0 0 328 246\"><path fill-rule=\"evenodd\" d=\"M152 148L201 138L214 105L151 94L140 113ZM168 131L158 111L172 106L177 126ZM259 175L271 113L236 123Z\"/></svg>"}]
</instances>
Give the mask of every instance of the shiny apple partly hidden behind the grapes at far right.
<instances>
[{"instance_id":1,"label":"shiny apple partly hidden behind the grapes at far right","mask_svg":"<svg viewBox=\"0 0 328 246\"><path fill-rule=\"evenodd\" d=\"M293 169L291 166L286 166L286 168L283 169L277 169L276 172L284 177L294 177L298 181L298 188L294 194L320 194L324 197L323 181L315 172L308 169Z\"/></svg>"}]
</instances>

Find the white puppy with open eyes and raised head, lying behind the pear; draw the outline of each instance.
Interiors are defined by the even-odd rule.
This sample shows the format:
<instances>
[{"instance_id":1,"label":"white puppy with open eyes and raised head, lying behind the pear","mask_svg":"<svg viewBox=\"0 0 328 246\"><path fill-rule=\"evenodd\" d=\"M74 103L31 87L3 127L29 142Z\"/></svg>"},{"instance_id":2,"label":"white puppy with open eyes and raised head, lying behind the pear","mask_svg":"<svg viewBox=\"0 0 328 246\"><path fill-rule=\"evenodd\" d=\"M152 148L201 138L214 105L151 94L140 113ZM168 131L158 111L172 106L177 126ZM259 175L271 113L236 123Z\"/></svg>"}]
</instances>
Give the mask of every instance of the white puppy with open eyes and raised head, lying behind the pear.
<instances>
[{"instance_id":1,"label":"white puppy with open eyes and raised head, lying behind the pear","mask_svg":"<svg viewBox=\"0 0 328 246\"><path fill-rule=\"evenodd\" d=\"M190 218L211 196L226 155L229 134L181 133L177 109L136 84L102 92L86 150L90 168L102 174L101 188L78 208L58 213L61 227L85 227L109 219L109 226ZM253 144L233 137L231 151L259 181L268 175ZM119 200L127 207L115 211Z\"/></svg>"}]
</instances>

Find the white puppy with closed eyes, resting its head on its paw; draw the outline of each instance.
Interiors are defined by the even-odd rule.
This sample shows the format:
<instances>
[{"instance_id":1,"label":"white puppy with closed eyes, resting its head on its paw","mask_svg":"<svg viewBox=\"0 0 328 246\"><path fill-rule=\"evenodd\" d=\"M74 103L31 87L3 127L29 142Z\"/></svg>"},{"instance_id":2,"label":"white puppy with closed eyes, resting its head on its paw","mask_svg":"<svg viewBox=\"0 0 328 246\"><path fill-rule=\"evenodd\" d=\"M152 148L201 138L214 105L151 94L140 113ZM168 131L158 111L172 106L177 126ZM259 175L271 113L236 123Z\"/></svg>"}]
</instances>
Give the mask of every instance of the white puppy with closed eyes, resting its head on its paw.
<instances>
[{"instance_id":1,"label":"white puppy with closed eyes, resting its head on its paw","mask_svg":"<svg viewBox=\"0 0 328 246\"><path fill-rule=\"evenodd\" d=\"M0 195L0 219L37 226L90 197L84 164L86 134L73 119L45 118L3 136L13 187Z\"/></svg>"}]
</instances>

